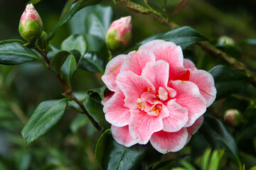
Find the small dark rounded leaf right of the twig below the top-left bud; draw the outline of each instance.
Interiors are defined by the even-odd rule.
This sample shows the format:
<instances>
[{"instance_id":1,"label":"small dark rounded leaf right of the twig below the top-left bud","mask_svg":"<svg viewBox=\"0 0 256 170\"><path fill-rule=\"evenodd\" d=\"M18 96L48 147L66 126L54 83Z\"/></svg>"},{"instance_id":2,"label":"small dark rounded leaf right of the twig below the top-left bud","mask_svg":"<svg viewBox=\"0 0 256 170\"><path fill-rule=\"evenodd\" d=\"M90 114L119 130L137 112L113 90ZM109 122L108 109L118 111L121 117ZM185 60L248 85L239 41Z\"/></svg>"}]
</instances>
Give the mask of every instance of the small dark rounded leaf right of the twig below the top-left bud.
<instances>
[{"instance_id":1,"label":"small dark rounded leaf right of the twig below the top-left bud","mask_svg":"<svg viewBox=\"0 0 256 170\"><path fill-rule=\"evenodd\" d=\"M69 55L70 52L68 51L60 51L56 53L50 61L50 68L53 69L55 73L60 73L60 69Z\"/></svg>"}]
</instances>

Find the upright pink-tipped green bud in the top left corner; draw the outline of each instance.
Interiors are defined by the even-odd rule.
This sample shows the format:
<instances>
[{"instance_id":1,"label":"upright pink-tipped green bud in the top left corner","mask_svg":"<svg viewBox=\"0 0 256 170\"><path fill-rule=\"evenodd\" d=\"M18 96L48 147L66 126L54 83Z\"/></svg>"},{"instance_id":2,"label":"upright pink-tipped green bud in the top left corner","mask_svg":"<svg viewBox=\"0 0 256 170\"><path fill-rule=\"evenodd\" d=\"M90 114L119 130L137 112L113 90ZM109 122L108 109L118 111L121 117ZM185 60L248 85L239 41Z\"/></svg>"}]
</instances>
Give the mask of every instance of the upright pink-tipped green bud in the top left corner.
<instances>
[{"instance_id":1,"label":"upright pink-tipped green bud in the top left corner","mask_svg":"<svg viewBox=\"0 0 256 170\"><path fill-rule=\"evenodd\" d=\"M21 37L29 42L35 41L43 31L43 21L32 4L26 6L18 25Z\"/></svg>"}]
</instances>

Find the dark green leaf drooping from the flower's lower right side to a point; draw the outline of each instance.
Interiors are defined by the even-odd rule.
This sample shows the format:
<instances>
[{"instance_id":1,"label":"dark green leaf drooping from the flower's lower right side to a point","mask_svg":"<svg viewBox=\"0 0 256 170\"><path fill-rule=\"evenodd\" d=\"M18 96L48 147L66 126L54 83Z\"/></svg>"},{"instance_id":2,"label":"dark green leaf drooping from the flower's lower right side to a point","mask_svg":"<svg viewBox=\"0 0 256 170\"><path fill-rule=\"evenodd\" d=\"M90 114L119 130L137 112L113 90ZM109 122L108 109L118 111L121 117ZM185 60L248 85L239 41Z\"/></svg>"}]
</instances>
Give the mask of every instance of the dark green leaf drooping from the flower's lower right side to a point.
<instances>
[{"instance_id":1,"label":"dark green leaf drooping from the flower's lower right side to a point","mask_svg":"<svg viewBox=\"0 0 256 170\"><path fill-rule=\"evenodd\" d=\"M206 140L208 140L213 147L225 149L225 154L241 166L235 140L220 120L206 115L200 132L203 133Z\"/></svg>"}]
</instances>

